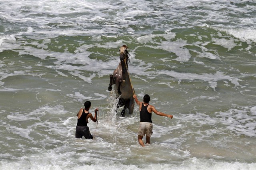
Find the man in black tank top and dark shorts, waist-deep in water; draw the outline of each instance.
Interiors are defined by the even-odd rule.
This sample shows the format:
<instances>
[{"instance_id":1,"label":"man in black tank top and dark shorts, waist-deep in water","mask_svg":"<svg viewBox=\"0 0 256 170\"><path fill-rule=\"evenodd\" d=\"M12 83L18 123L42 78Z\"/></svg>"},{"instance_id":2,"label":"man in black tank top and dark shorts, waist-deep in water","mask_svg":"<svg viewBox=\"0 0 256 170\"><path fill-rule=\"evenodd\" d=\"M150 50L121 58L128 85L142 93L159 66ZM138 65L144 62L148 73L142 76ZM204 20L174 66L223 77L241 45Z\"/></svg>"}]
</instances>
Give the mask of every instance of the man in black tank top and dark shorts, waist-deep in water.
<instances>
[{"instance_id":1,"label":"man in black tank top and dark shorts, waist-deep in water","mask_svg":"<svg viewBox=\"0 0 256 170\"><path fill-rule=\"evenodd\" d=\"M91 102L86 101L84 103L85 109L80 109L77 113L77 125L76 125L76 138L82 138L83 136L86 139L92 139L92 134L90 133L89 127L87 126L88 119L92 119L92 121L97 121L97 111L99 109L95 109L94 117L92 117L92 113L89 112L89 109L91 107Z\"/></svg>"}]
</instances>

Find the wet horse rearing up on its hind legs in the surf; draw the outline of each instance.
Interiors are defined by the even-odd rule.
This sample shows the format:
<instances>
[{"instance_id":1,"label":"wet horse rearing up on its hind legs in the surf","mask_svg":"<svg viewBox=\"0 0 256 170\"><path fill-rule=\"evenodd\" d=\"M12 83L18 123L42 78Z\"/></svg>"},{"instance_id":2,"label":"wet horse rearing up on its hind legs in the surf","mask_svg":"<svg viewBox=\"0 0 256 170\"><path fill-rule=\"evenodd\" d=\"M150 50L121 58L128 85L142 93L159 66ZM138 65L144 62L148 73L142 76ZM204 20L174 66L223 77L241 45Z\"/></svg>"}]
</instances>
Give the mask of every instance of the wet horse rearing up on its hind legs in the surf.
<instances>
[{"instance_id":1,"label":"wet horse rearing up on its hind legs in the surf","mask_svg":"<svg viewBox=\"0 0 256 170\"><path fill-rule=\"evenodd\" d=\"M132 87L132 83L130 80L129 72L128 72L128 64L130 63L130 54L127 51L127 45L123 45L119 49L119 58L120 63L118 67L114 70L113 74L110 75L110 83L108 87L108 91L112 90L112 85L115 85L114 91L116 93L116 99L119 98L119 101L116 105L116 112L119 107L124 106L121 112L121 116L125 116L125 110L128 108L129 114L133 113L134 109L134 98L135 94L134 88Z\"/></svg>"}]
</instances>

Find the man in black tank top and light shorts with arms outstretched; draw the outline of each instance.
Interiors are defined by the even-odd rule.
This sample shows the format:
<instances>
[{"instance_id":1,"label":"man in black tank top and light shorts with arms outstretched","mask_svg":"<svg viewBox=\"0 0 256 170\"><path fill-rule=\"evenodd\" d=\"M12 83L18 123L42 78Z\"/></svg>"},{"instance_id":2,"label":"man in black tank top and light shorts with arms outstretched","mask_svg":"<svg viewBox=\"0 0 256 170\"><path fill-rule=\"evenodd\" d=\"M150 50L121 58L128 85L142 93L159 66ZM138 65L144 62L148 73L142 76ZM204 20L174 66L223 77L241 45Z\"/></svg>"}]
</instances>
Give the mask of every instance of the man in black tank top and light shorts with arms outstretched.
<instances>
[{"instance_id":1,"label":"man in black tank top and light shorts with arms outstretched","mask_svg":"<svg viewBox=\"0 0 256 170\"><path fill-rule=\"evenodd\" d=\"M138 142L141 146L145 146L142 138L146 134L146 144L150 144L150 137L151 134L153 133L153 125L152 125L152 112L156 113L156 115L159 116L166 116L170 117L171 119L173 118L172 115L167 115L162 112L159 112L155 109L153 105L149 105L150 101L150 96L149 95L144 95L143 97L143 103L138 101L137 96L133 95L133 98L135 99L135 102L139 105L140 107L140 127L139 127L139 132L138 132Z\"/></svg>"}]
</instances>

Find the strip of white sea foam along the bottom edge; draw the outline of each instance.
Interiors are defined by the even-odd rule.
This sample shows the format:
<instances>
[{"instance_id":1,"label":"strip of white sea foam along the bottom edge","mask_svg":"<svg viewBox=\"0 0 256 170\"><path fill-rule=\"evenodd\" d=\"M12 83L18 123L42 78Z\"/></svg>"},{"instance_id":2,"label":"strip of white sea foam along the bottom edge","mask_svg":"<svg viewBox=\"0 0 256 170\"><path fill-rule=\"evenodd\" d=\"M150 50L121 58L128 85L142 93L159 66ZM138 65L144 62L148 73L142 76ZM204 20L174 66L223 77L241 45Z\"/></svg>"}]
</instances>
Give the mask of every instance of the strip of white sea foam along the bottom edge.
<instances>
[{"instance_id":1,"label":"strip of white sea foam along the bottom edge","mask_svg":"<svg viewBox=\"0 0 256 170\"><path fill-rule=\"evenodd\" d=\"M45 153L45 154L35 154L31 157L22 157L20 160L16 162L8 163L6 160L2 160L1 169L11 170L11 169L66 169L67 167L70 169L106 169L106 170L146 170L146 169L165 169L165 170L255 170L255 163L240 163L240 162L213 162L212 160L206 159L198 159L198 158L190 158L182 161L182 164L147 164L143 168L138 167L134 164L125 165L120 162L109 160L108 162L100 162L97 160L97 164L87 165L86 162L90 161L91 155L81 156L78 158L80 162L77 162L76 165L69 167L68 163L70 161L64 161L65 155L58 155L57 153ZM56 159L58 158L58 159ZM74 160L73 160L74 161ZM31 163L33 162L33 163ZM44 163L42 163L44 162ZM56 163L54 163L56 162ZM59 162L59 163L58 163ZM82 164L84 162L84 164ZM19 166L20 164L24 164L22 168ZM114 164L114 165L113 165ZM66 167L66 168L65 168Z\"/></svg>"}]
</instances>

